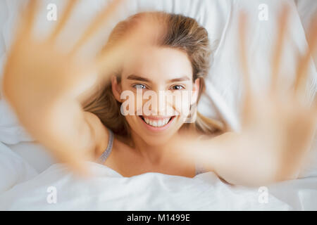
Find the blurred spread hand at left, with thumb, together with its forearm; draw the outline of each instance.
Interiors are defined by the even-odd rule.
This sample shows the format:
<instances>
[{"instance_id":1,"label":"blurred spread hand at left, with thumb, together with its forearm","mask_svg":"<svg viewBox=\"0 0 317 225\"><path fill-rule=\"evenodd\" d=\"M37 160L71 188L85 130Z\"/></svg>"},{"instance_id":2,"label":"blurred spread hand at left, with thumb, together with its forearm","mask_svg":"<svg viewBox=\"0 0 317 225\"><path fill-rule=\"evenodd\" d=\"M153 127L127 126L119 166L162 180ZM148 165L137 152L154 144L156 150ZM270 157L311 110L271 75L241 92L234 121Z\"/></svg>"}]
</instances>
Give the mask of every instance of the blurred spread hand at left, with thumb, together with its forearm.
<instances>
[{"instance_id":1,"label":"blurred spread hand at left, with thumb, together with its forearm","mask_svg":"<svg viewBox=\"0 0 317 225\"><path fill-rule=\"evenodd\" d=\"M135 29L107 51L85 61L80 59L80 48L116 12L120 1L114 0L92 20L72 49L61 51L56 47L56 39L77 2L67 1L54 30L42 40L33 34L39 1L28 2L8 53L2 87L20 123L32 137L51 150L58 160L80 169L85 155L82 151L93 150L94 137L93 128L85 122L88 119L75 98L115 70L142 32Z\"/></svg>"}]
</instances>

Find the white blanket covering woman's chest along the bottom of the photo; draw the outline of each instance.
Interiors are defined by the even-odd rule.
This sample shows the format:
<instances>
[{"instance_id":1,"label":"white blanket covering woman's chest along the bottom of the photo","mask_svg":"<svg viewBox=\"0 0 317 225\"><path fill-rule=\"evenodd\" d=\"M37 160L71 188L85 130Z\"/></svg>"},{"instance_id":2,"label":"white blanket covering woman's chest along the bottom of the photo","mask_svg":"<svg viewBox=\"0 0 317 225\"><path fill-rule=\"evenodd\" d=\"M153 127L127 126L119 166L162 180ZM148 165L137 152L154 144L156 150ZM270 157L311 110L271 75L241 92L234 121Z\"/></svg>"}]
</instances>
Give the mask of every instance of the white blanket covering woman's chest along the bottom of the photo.
<instances>
[{"instance_id":1,"label":"white blanket covering woman's chest along the bottom of the photo","mask_svg":"<svg viewBox=\"0 0 317 225\"><path fill-rule=\"evenodd\" d=\"M193 179L159 173L125 178L87 163L93 178L52 165L0 194L0 210L317 210L317 177L244 188L228 186L212 172Z\"/></svg>"}]
</instances>

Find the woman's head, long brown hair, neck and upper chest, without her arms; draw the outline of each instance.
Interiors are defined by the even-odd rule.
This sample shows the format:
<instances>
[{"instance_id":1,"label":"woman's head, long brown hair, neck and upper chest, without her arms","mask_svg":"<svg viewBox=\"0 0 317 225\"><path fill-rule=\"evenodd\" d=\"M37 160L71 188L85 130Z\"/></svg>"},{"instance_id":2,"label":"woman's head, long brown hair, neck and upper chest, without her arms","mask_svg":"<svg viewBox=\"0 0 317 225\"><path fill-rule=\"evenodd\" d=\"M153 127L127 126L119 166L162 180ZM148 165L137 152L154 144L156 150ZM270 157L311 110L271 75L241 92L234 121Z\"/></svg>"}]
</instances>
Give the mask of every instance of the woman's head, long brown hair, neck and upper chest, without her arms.
<instances>
[{"instance_id":1,"label":"woman's head, long brown hair, neck and upper chest, without her arms","mask_svg":"<svg viewBox=\"0 0 317 225\"><path fill-rule=\"evenodd\" d=\"M154 32L141 37L143 41L140 41L142 44L137 51L133 52L132 57L127 54L112 79L104 86L99 86L83 103L84 110L97 115L102 124L116 134L112 153L108 154L105 165L116 167L113 164L118 165L118 162L113 162L113 158L122 153L118 161L129 155L130 160L135 159L140 165L139 168L135 165L132 168L127 166L130 164L127 160L125 172L116 167L125 175L156 171L193 176L195 172L189 169L191 166L180 166L178 163L167 166L172 162L166 160L167 155L170 155L166 149L170 140L181 130L209 135L223 131L220 122L199 113L196 120L186 122L189 113L182 110L196 110L194 106L204 91L204 77L208 75L211 55L208 33L196 20L183 15L138 13L116 25L103 51L118 43L130 32L131 27L142 25L144 21L155 26ZM132 95L128 99L129 113L125 115L122 110L126 107L123 95L127 91ZM144 94L141 94L141 99L137 95L140 91ZM194 95L193 91L197 91L198 95ZM159 104L162 101L162 98L158 98L162 96L160 92L167 93L163 95L169 99L166 105ZM173 96L181 92L190 93L191 98L176 97L173 101ZM150 98L151 103L142 101L144 98ZM149 113L142 111L144 107L149 108ZM119 140L120 144L117 145ZM101 153L105 148L106 143L104 148L100 148ZM162 165L166 169L162 169Z\"/></svg>"}]
</instances>

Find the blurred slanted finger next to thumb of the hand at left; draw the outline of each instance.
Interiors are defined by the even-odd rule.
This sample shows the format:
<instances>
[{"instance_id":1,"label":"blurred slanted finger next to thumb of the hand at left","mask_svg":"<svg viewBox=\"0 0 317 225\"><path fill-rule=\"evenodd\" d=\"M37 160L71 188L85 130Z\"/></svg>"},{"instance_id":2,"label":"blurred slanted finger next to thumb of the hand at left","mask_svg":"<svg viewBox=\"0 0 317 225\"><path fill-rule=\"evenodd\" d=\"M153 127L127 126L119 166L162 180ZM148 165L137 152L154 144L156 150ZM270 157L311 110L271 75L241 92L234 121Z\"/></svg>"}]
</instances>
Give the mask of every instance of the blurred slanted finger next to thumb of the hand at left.
<instances>
[{"instance_id":1,"label":"blurred slanted finger next to thumb of the hand at left","mask_svg":"<svg viewBox=\"0 0 317 225\"><path fill-rule=\"evenodd\" d=\"M108 4L108 6L106 6L104 8L104 10L102 10L96 18L94 18L94 20L92 21L92 23L89 25L89 27L87 28L87 30L85 30L84 34L82 34L82 36L80 37L80 39L76 42L71 54L74 54L78 51L78 49L80 49L80 47L85 44L85 42L94 35L95 32L97 32L97 30L99 29L99 27L101 27L101 25L108 20L109 18L111 18L111 16L115 13L116 9L118 8L118 6L120 5L120 3L123 0L113 0L111 1L110 4Z\"/></svg>"}]
</instances>

